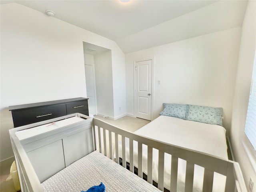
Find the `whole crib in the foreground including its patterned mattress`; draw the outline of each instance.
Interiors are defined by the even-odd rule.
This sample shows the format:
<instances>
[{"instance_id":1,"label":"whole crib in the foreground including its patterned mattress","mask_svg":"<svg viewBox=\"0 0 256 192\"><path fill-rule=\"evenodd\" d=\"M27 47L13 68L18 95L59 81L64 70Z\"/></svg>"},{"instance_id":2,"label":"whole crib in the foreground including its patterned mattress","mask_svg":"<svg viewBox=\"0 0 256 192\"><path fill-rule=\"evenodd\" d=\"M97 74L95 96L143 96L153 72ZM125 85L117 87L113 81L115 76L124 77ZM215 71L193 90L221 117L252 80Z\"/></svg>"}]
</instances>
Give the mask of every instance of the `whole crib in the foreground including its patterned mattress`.
<instances>
[{"instance_id":1,"label":"whole crib in the foreground including its patterned mattress","mask_svg":"<svg viewBox=\"0 0 256 192\"><path fill-rule=\"evenodd\" d=\"M72 117L86 119L61 127L58 126L60 121ZM16 132L37 128L37 126L47 127L48 130L20 140L17 137L18 134L16 134ZM52 129L49 128L51 126ZM53 126L55 127L53 128ZM129 190L130 187L137 184L149 188L149 190L146 189L145 191L158 191L152 186L152 178L154 175L153 150L155 149L158 153L158 164L156 165L158 167L157 182L158 189L161 191L164 190L164 165L168 163L165 154L170 154L172 155L172 169L170 170L171 191L177 190L178 159L183 159L186 164L186 192L193 191L193 175L194 170L196 171L196 169L194 169L195 166L204 168L202 191L211 191L212 184L216 179L215 175L222 174L226 178L224 191L246 192L242 173L239 164L236 162L212 156L205 152L198 152L196 150L147 138L82 114L72 114L13 128L10 130L10 137L21 188L22 191L25 192L44 192L44 190L51 190L52 187L54 191L65 191L61 188L64 184L67 185L67 188L74 186L72 189L68 188L68 191L81 191L86 190L86 188L92 185L98 185L100 182L105 182L106 191L120 191L120 189L132 191ZM121 146L118 145L120 137L122 142ZM111 172L122 173L123 171L128 171L125 168L121 169L120 165L117 164L119 163L119 158L114 158L114 153L116 157L120 157L119 148L121 147L122 160L126 162L126 138L129 140L130 172L116 176L116 174L111 174ZM112 146L113 141L115 141L114 146ZM134 150L134 142L138 143L137 152ZM143 172L142 162L144 161L144 154L142 158L144 147L142 146L147 146L147 182L141 179ZM98 152L94 152L95 150L98 150ZM101 159L100 156L102 156L102 154L99 154L99 152L105 156L109 156L109 158L103 157L100 161L95 160ZM135 165L135 158L133 157L136 156L138 157L138 176L133 173ZM104 168L104 165L107 163L104 163L105 160L110 161L108 162L110 165L107 166L108 168ZM89 164L92 164L92 167L88 166ZM112 169L112 167L114 169ZM126 167L124 163L123 167ZM95 169L97 169L97 171L94 171ZM92 176L92 182L89 182L88 175L92 172L96 175ZM100 173L102 173L101 176L99 176ZM86 174L88 175L86 176ZM129 182L126 182L126 176L130 178ZM78 180L81 179L80 177L82 178L82 182L78 182ZM55 181L52 182L53 180ZM110 181L113 182L111 183ZM60 189L57 190L59 187ZM136 191L140 190L138 189Z\"/></svg>"}]
</instances>

